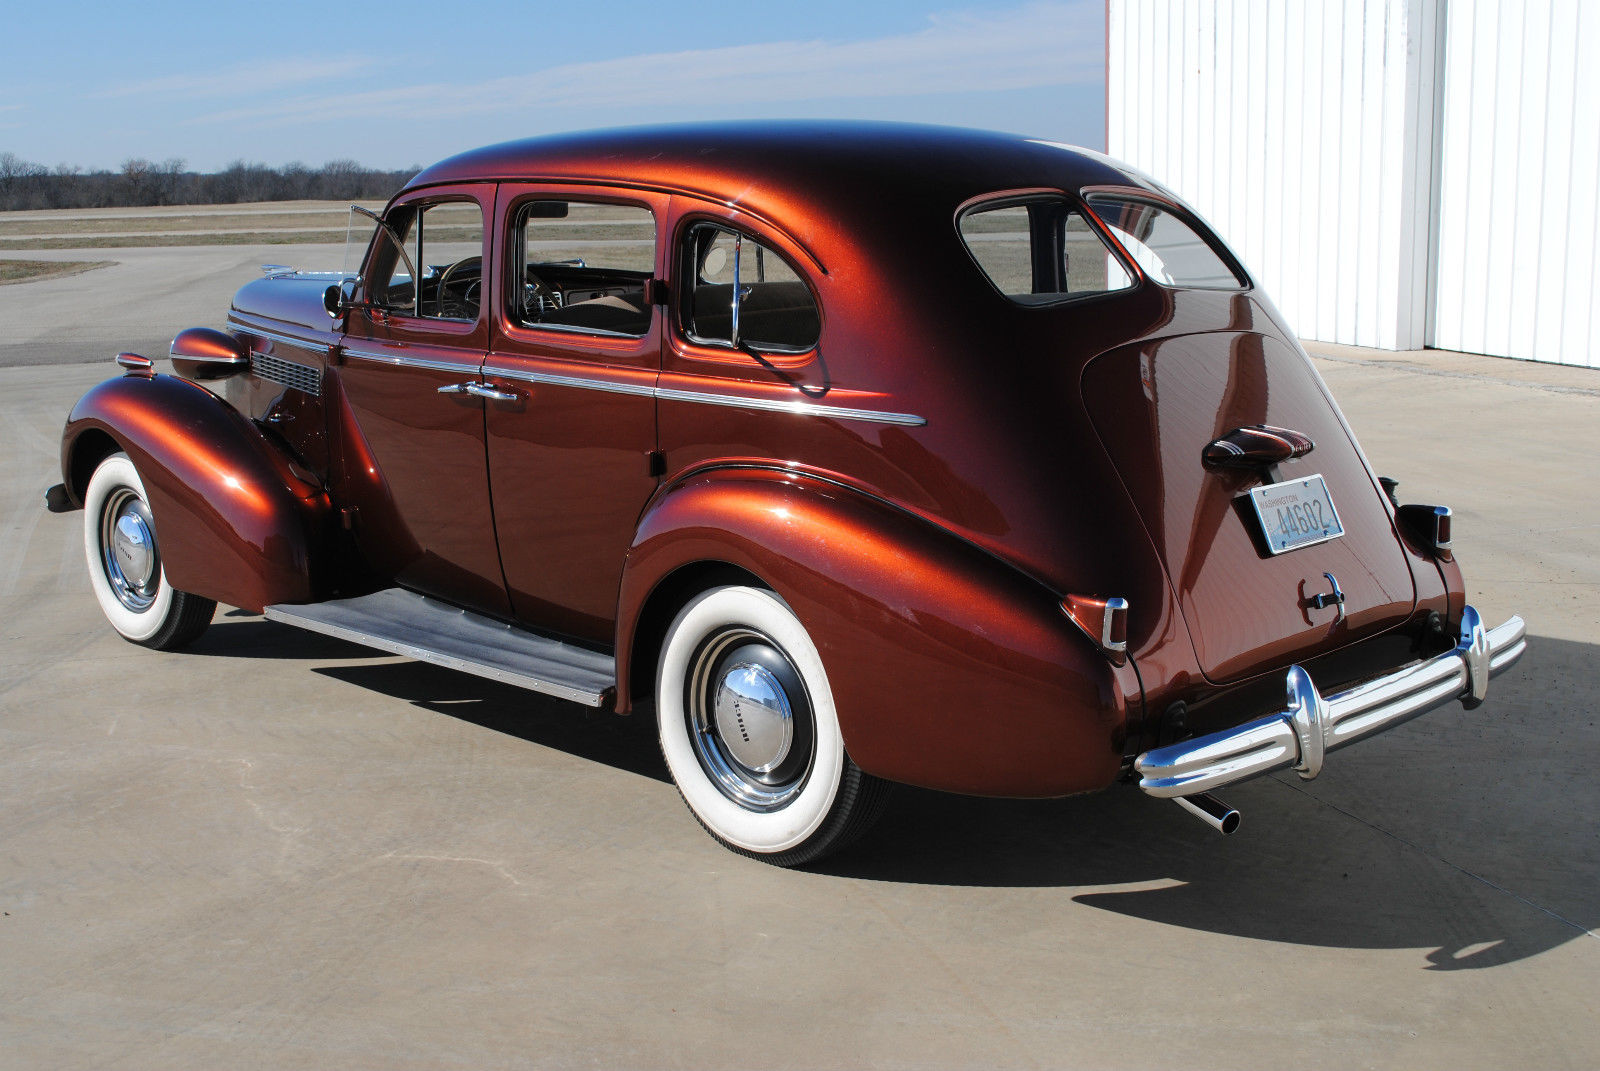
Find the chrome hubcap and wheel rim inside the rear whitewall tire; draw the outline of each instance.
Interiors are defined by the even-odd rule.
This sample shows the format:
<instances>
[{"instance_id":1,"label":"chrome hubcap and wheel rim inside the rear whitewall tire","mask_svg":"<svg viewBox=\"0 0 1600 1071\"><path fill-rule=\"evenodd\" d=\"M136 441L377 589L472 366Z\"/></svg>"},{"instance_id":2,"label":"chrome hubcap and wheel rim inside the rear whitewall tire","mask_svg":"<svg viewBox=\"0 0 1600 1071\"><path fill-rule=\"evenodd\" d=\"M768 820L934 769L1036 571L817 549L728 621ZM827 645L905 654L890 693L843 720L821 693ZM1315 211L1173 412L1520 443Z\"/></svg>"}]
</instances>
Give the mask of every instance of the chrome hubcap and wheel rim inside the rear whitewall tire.
<instances>
[{"instance_id":1,"label":"chrome hubcap and wheel rim inside the rear whitewall tire","mask_svg":"<svg viewBox=\"0 0 1600 1071\"><path fill-rule=\"evenodd\" d=\"M683 712L701 768L746 810L770 812L805 788L814 756L811 698L782 648L752 629L701 644Z\"/></svg>"}]
</instances>

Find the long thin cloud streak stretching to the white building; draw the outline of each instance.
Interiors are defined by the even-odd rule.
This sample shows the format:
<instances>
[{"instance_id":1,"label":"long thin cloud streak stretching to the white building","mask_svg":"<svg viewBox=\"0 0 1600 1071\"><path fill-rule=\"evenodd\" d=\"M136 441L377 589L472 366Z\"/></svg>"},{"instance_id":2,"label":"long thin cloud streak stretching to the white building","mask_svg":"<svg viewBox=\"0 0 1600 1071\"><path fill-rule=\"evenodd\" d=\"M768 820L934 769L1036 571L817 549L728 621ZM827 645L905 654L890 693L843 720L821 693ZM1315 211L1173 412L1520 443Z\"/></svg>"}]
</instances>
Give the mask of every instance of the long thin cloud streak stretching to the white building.
<instances>
[{"instance_id":1,"label":"long thin cloud streak stretching to the white building","mask_svg":"<svg viewBox=\"0 0 1600 1071\"><path fill-rule=\"evenodd\" d=\"M1098 0L931 16L923 29L862 42L805 40L650 53L565 64L470 85L410 85L339 98L296 96L190 118L285 125L381 109L459 118L515 109L706 106L1029 90L1096 82L1104 42Z\"/></svg>"}]
</instances>

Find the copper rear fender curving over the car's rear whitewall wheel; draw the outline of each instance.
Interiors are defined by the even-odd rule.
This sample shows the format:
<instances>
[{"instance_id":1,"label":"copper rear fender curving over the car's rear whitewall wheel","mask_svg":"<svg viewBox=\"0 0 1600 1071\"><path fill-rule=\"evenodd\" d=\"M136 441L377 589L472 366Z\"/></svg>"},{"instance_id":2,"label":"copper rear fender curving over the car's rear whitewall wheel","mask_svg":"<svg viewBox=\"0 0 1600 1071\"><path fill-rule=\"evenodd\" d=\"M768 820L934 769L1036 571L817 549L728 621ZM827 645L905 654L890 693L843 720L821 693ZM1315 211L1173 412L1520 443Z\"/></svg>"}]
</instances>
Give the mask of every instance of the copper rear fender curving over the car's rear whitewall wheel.
<instances>
[{"instance_id":1,"label":"copper rear fender curving over the car's rear whitewall wheel","mask_svg":"<svg viewBox=\"0 0 1600 1071\"><path fill-rule=\"evenodd\" d=\"M862 770L978 796L1067 796L1117 778L1141 701L1133 668L1110 666L1037 581L949 531L795 472L691 475L640 523L619 666L632 664L651 596L709 562L758 576L805 624Z\"/></svg>"}]
</instances>

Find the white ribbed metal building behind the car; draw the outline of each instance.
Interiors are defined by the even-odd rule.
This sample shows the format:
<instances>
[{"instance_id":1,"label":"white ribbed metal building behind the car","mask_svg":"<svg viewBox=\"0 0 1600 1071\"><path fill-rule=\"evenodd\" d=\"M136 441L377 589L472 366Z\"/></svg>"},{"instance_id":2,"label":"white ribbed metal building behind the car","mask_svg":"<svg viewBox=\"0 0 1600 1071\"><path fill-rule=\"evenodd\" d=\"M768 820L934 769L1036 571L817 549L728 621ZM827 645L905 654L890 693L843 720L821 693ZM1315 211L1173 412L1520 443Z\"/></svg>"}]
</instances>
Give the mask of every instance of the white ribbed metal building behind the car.
<instances>
[{"instance_id":1,"label":"white ribbed metal building behind the car","mask_svg":"<svg viewBox=\"0 0 1600 1071\"><path fill-rule=\"evenodd\" d=\"M1600 368L1600 2L1109 0L1107 149L1302 338Z\"/></svg>"}]
</instances>

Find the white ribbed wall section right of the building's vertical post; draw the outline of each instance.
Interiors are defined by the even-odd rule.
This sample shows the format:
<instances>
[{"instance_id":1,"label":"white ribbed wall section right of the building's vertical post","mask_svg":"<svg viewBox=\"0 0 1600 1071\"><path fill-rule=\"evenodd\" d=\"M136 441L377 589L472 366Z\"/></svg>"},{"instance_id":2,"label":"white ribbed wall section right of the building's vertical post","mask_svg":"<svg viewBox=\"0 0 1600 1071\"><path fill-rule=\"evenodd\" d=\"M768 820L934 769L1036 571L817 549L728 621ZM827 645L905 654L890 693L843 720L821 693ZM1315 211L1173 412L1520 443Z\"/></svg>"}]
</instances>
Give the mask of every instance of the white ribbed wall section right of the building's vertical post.
<instances>
[{"instance_id":1,"label":"white ribbed wall section right of the building's vertical post","mask_svg":"<svg viewBox=\"0 0 1600 1071\"><path fill-rule=\"evenodd\" d=\"M1600 367L1600 3L1450 0L1430 343Z\"/></svg>"}]
</instances>

